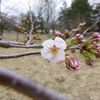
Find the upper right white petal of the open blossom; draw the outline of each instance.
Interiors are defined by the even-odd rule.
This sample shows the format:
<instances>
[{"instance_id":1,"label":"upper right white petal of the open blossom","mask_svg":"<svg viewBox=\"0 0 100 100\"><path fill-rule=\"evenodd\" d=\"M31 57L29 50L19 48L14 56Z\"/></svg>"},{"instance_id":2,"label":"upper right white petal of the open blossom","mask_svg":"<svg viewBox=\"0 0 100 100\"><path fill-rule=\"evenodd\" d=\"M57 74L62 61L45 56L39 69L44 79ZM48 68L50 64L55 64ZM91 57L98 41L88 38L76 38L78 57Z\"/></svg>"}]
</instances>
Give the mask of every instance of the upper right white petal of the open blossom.
<instances>
[{"instance_id":1,"label":"upper right white petal of the open blossom","mask_svg":"<svg viewBox=\"0 0 100 100\"><path fill-rule=\"evenodd\" d=\"M57 47L66 49L66 42L62 38L56 37L54 41Z\"/></svg>"}]
</instances>

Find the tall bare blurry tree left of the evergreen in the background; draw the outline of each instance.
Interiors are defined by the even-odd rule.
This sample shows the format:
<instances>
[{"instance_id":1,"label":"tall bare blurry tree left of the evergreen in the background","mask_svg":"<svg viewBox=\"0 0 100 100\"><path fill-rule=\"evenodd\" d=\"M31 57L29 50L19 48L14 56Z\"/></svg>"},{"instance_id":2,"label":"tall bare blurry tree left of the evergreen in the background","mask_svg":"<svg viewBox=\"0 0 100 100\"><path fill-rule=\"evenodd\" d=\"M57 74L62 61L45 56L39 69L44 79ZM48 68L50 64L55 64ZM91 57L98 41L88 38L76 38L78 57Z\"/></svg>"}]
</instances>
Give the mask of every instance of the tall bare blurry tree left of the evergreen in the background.
<instances>
[{"instance_id":1,"label":"tall bare blurry tree left of the evergreen in the background","mask_svg":"<svg viewBox=\"0 0 100 100\"><path fill-rule=\"evenodd\" d=\"M53 30L55 30L56 27L56 22L57 22L57 6L59 4L59 0L47 0L47 6L45 7L44 13L43 13L43 17L46 21L45 23L45 27L47 30L47 33L49 34L49 30L50 28Z\"/></svg>"}]
</instances>

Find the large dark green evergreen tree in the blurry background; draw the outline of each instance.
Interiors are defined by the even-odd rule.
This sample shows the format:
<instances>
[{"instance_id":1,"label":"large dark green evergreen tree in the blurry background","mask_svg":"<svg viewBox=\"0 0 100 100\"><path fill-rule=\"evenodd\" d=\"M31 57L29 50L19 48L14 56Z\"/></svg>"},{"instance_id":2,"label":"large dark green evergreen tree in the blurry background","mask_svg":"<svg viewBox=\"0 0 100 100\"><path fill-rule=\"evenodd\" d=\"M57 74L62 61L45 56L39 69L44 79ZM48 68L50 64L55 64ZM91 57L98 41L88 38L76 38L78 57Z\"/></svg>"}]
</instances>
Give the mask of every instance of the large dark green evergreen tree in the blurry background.
<instances>
[{"instance_id":1,"label":"large dark green evergreen tree in the blurry background","mask_svg":"<svg viewBox=\"0 0 100 100\"><path fill-rule=\"evenodd\" d=\"M75 28L81 22L90 23L91 12L92 6L88 0L73 0L71 7L67 7L64 3L64 7L60 12L60 18L63 19L62 22L64 22L67 27Z\"/></svg>"}]
</instances>

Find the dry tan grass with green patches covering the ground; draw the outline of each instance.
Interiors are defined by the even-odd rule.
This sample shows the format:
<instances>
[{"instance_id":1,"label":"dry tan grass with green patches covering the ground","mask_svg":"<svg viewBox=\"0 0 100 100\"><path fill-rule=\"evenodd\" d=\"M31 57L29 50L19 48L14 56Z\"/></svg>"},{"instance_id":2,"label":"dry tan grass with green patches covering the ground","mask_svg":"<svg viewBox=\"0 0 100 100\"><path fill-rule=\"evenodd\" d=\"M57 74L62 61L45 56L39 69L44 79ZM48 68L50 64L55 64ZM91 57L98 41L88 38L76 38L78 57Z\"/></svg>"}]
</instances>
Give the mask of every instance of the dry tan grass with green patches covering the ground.
<instances>
[{"instance_id":1,"label":"dry tan grass with green patches covering the ground","mask_svg":"<svg viewBox=\"0 0 100 100\"><path fill-rule=\"evenodd\" d=\"M0 53L11 54L33 50L0 48ZM35 79L46 87L65 94L70 100L100 100L99 60L95 60L95 66L90 68L84 64L82 56L77 53L74 56L78 57L81 61L81 69L79 71L67 70L64 63L60 65L48 63L41 55L6 60L0 59L0 66ZM0 86L0 100L31 99L8 87Z\"/></svg>"}]
</instances>

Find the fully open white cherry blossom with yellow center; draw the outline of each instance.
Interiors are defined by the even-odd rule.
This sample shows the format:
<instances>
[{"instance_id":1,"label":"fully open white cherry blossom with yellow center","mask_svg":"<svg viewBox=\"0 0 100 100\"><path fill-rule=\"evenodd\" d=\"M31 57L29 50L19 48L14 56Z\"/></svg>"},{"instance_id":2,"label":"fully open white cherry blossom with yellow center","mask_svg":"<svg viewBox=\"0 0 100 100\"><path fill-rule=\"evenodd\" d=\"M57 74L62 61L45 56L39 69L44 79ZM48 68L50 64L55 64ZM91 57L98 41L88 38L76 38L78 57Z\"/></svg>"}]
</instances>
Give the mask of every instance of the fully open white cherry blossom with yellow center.
<instances>
[{"instance_id":1,"label":"fully open white cherry blossom with yellow center","mask_svg":"<svg viewBox=\"0 0 100 100\"><path fill-rule=\"evenodd\" d=\"M66 42L62 38L56 37L55 40L46 40L42 46L41 55L49 62L60 64L65 60Z\"/></svg>"}]
</instances>

